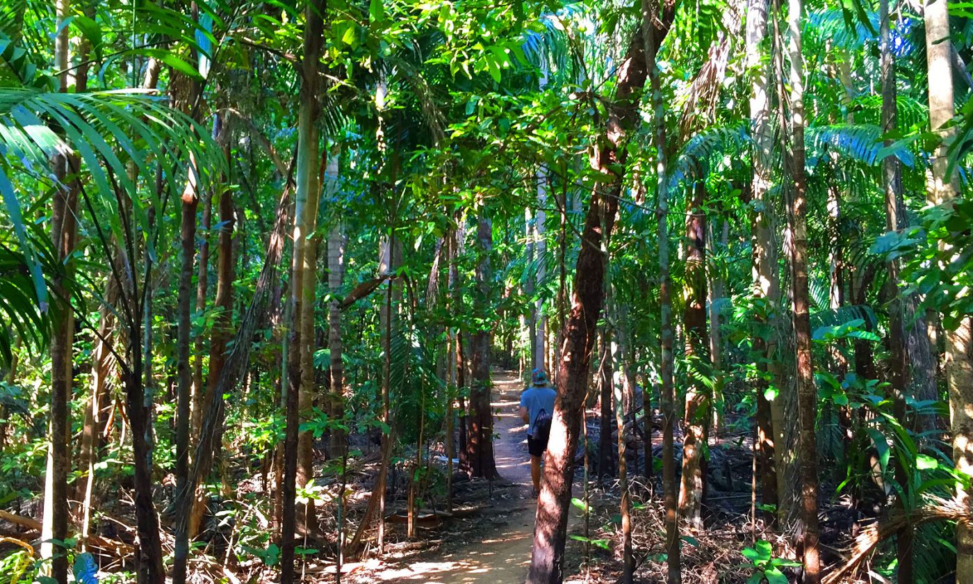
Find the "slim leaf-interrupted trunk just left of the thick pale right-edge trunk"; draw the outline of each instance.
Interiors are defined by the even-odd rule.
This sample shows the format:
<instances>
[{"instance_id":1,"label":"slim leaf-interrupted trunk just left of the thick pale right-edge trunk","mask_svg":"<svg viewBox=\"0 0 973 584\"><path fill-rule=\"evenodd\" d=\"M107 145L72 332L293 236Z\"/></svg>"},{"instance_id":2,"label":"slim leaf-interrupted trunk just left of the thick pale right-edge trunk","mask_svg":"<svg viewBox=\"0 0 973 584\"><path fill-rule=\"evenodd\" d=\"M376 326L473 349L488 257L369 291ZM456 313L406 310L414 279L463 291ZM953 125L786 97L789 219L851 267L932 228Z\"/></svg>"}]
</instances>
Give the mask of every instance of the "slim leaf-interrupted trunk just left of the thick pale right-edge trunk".
<instances>
[{"instance_id":1,"label":"slim leaf-interrupted trunk just left of the thick pale right-edge trunk","mask_svg":"<svg viewBox=\"0 0 973 584\"><path fill-rule=\"evenodd\" d=\"M879 3L880 48L882 65L882 132L889 135L897 129L895 112L895 56L892 54L891 32L889 30L888 0ZM893 140L885 140L890 147ZM885 190L885 227L888 231L898 232L905 229L905 203L902 196L902 166L899 159L887 156L882 163L883 187ZM888 288L892 299L889 303L889 331L891 349L891 391L893 414L897 420L906 420L906 386L909 381L909 352L905 341L905 321L903 317L908 299L899 293L899 262L888 262ZM904 506L903 497L908 496L909 478L903 460L896 456L895 480L903 493L897 505ZM906 525L896 534L896 559L898 560L896 581L898 584L912 584L913 581L913 529Z\"/></svg>"}]
</instances>

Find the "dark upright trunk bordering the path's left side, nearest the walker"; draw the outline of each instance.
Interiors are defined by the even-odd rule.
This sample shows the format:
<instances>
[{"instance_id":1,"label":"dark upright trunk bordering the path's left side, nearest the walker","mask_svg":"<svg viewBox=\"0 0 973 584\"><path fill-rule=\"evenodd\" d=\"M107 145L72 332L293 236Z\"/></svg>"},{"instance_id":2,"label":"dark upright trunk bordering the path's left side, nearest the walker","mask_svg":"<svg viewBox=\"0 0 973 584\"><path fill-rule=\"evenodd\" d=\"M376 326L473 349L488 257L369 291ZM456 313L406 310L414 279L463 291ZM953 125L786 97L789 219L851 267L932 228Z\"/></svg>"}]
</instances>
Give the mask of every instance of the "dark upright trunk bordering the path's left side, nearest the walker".
<instances>
[{"instance_id":1,"label":"dark upright trunk bordering the path's left side, nearest the walker","mask_svg":"<svg viewBox=\"0 0 973 584\"><path fill-rule=\"evenodd\" d=\"M482 321L488 321L490 310L489 290L490 253L493 249L493 228L481 209L477 222L477 254L480 256L476 269L476 291L474 310ZM490 332L486 325L478 324L470 340L471 380L469 414L469 461L470 472L475 477L492 478L496 474L493 458L493 412L490 410L489 379Z\"/></svg>"}]
</instances>

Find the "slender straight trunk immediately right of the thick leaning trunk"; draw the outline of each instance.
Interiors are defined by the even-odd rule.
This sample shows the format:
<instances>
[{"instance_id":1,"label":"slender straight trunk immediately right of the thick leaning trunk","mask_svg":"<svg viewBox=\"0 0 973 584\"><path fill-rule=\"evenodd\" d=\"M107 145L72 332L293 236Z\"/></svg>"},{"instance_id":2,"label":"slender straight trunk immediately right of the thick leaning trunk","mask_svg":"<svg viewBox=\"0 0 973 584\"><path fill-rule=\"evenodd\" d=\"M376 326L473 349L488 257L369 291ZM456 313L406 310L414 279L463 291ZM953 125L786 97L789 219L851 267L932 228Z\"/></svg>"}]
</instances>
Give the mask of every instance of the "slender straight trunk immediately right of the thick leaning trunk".
<instances>
[{"instance_id":1,"label":"slender straight trunk immediately right of the thick leaning trunk","mask_svg":"<svg viewBox=\"0 0 973 584\"><path fill-rule=\"evenodd\" d=\"M663 497L666 506L667 583L682 581L679 558L679 509L675 480L675 387L672 380L672 279L669 274L668 241L668 159L666 139L666 105L663 101L662 70L659 50L674 18L675 5L642 0L641 32L645 67L652 92L652 143L656 148L656 216L659 225L659 306L660 306L660 409L663 415ZM651 436L651 432L648 434ZM646 453L651 453L651 440ZM646 456L648 460L649 456ZM648 464L647 464L648 465Z\"/></svg>"}]
</instances>

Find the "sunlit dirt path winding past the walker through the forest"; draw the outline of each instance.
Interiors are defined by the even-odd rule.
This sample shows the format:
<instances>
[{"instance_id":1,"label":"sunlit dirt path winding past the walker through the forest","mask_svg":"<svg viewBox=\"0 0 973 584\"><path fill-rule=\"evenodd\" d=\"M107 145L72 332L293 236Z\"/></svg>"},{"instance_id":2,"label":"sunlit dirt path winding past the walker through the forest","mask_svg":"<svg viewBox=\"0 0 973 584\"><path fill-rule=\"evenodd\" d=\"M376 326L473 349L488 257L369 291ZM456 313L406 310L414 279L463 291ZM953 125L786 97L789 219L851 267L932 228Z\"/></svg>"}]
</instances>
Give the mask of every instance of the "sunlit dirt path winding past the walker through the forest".
<instances>
[{"instance_id":1,"label":"sunlit dirt path winding past the walker through the forest","mask_svg":"<svg viewBox=\"0 0 973 584\"><path fill-rule=\"evenodd\" d=\"M405 584L515 584L523 582L530 562L534 529L534 498L530 496L530 459L527 456L526 426L518 417L523 383L512 372L493 372L491 404L499 411L493 443L500 476L516 488L506 509L491 509L484 521L494 529L483 529L479 540L451 547L433 560L407 566L386 566L371 574L372 581ZM506 511L506 516L501 513Z\"/></svg>"}]
</instances>

